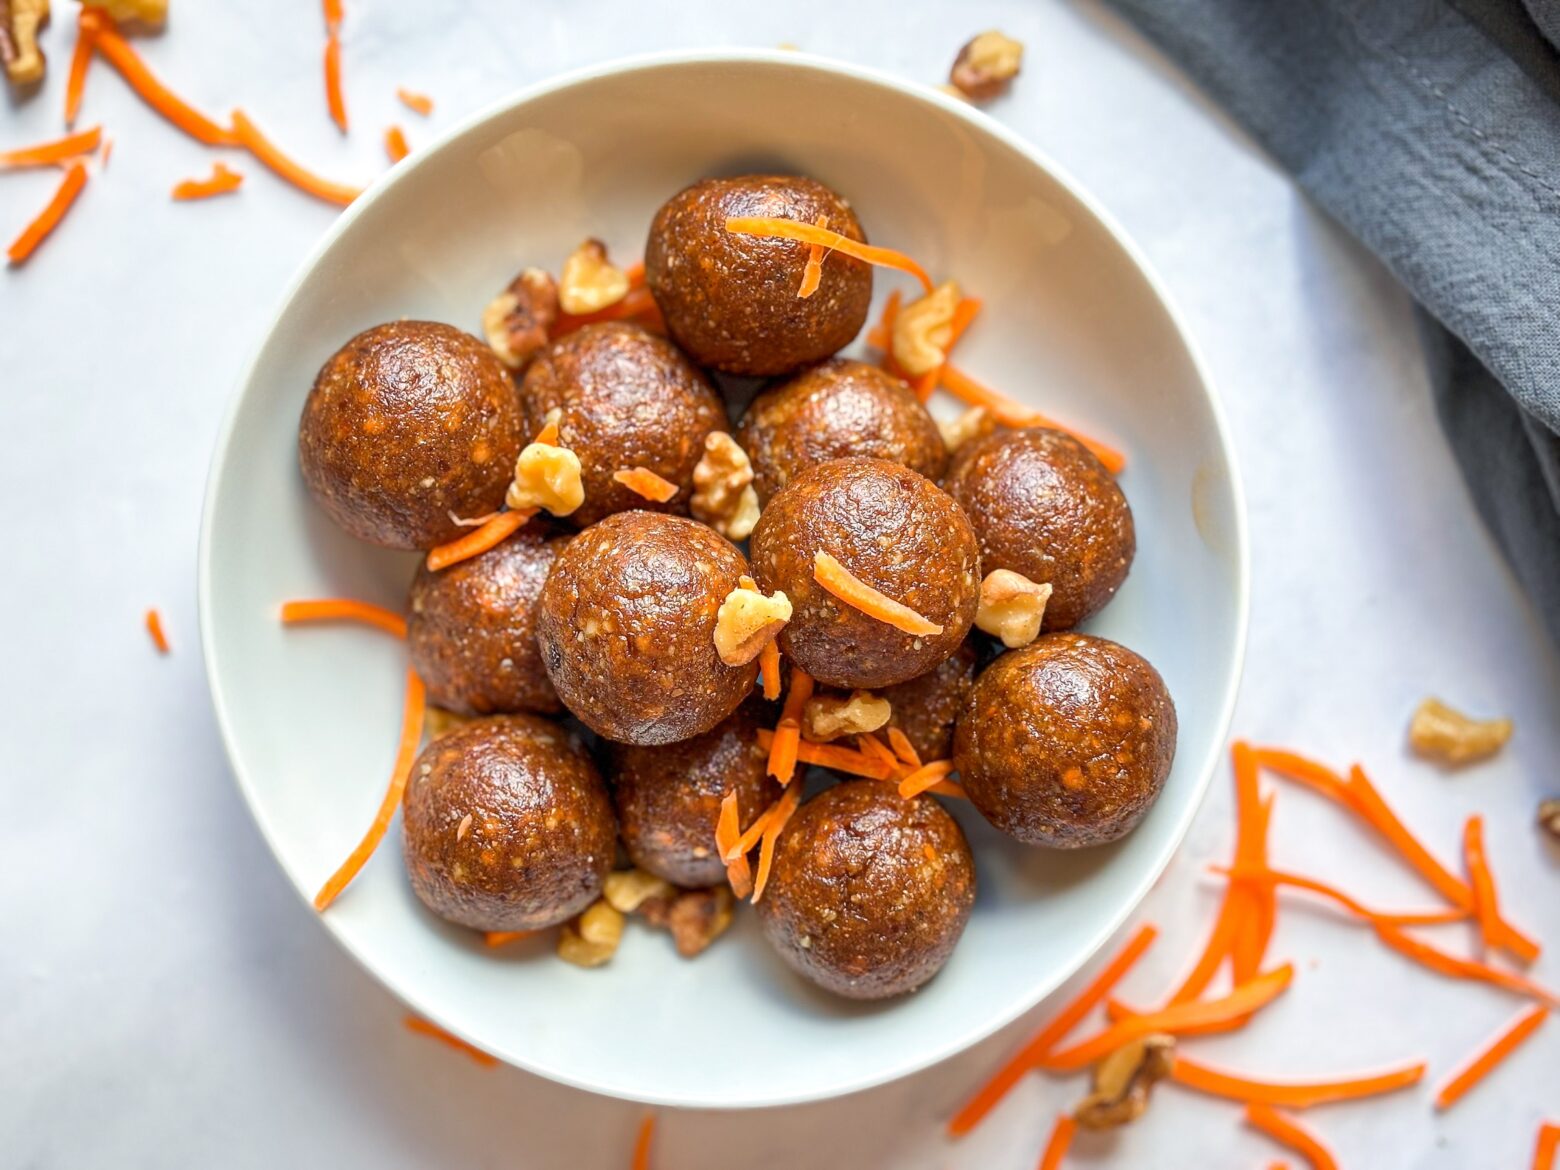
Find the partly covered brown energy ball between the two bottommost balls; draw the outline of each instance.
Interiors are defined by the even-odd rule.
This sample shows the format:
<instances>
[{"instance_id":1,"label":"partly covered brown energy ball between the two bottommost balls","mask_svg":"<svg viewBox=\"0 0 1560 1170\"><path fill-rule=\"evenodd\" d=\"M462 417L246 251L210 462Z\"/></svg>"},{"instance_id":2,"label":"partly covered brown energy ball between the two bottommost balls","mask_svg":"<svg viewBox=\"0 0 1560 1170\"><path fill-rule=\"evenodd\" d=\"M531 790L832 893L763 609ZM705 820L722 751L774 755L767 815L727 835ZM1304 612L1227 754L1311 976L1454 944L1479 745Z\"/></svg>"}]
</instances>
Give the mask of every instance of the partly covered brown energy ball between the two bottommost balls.
<instances>
[{"instance_id":1,"label":"partly covered brown energy ball between the two bottommost balls","mask_svg":"<svg viewBox=\"0 0 1560 1170\"><path fill-rule=\"evenodd\" d=\"M714 852L721 800L735 791L739 821L750 825L780 797L780 785L764 774L769 753L758 746L758 729L774 724L763 711L761 702L749 700L680 744L612 744L612 794L633 864L674 886L725 881L725 863Z\"/></svg>"}]
</instances>

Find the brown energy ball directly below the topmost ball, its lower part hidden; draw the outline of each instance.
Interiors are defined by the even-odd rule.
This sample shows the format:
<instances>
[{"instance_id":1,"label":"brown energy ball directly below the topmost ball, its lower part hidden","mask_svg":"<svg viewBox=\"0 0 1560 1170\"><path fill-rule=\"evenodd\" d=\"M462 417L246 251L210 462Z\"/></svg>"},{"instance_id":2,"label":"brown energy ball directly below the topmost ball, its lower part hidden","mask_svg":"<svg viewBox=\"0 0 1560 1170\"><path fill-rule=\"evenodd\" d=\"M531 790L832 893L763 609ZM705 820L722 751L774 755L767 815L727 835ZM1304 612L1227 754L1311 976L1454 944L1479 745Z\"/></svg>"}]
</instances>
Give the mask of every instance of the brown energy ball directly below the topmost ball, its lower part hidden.
<instances>
[{"instance_id":1,"label":"brown energy ball directly below the topmost ball, its lower part hidden","mask_svg":"<svg viewBox=\"0 0 1560 1170\"><path fill-rule=\"evenodd\" d=\"M874 456L941 479L948 449L936 421L902 381L875 365L831 357L764 390L747 407L736 441L753 462L753 488L769 502L817 463Z\"/></svg>"}]
</instances>

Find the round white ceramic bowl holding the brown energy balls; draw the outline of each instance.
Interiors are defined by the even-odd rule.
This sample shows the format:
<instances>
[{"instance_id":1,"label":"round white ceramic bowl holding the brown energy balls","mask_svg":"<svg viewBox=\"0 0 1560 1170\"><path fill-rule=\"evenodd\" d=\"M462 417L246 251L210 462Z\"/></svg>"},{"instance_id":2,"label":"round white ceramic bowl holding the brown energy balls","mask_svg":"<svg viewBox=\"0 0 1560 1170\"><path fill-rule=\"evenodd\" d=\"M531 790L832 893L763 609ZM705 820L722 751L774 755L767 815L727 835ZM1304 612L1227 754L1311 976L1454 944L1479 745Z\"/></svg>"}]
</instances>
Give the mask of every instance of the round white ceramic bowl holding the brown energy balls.
<instances>
[{"instance_id":1,"label":"round white ceramic bowl holding the brown energy balls","mask_svg":"<svg viewBox=\"0 0 1560 1170\"><path fill-rule=\"evenodd\" d=\"M958 808L980 872L975 914L942 973L903 1000L863 1006L811 989L752 914L691 963L636 928L590 972L557 961L548 939L487 950L412 895L398 830L324 916L376 978L449 1031L544 1076L665 1104L864 1089L959 1051L1078 970L1197 810L1246 622L1243 509L1207 379L1139 253L1037 150L928 87L794 53L574 73L471 119L342 215L282 298L218 440L200 555L206 665L239 786L300 894L314 894L381 799L402 647L362 629L282 630L278 602L399 607L415 563L346 537L309 501L295 443L320 363L390 318L476 331L521 265L555 270L587 236L638 256L672 192L758 168L822 179L874 242L963 281L987 307L959 362L1129 452L1137 562L1089 629L1161 669L1181 739L1159 803L1108 849L1025 849ZM878 300L897 282L880 273Z\"/></svg>"}]
</instances>

